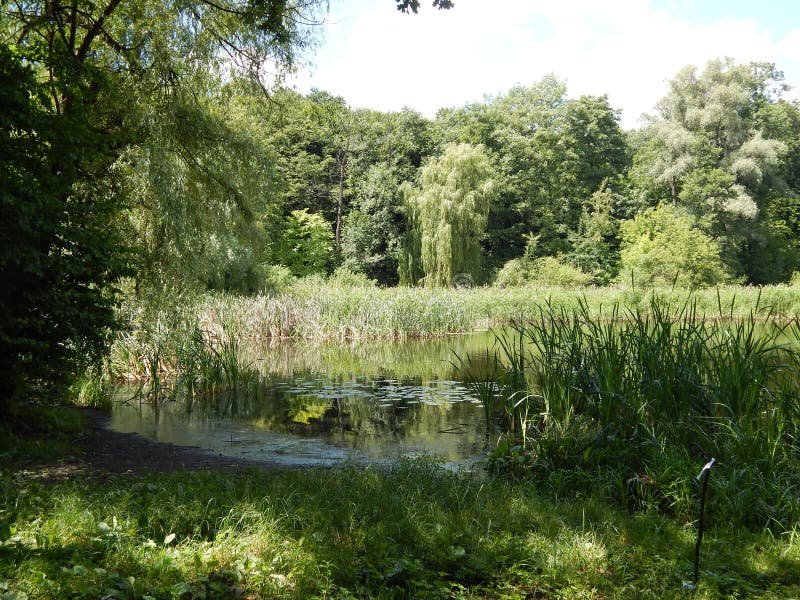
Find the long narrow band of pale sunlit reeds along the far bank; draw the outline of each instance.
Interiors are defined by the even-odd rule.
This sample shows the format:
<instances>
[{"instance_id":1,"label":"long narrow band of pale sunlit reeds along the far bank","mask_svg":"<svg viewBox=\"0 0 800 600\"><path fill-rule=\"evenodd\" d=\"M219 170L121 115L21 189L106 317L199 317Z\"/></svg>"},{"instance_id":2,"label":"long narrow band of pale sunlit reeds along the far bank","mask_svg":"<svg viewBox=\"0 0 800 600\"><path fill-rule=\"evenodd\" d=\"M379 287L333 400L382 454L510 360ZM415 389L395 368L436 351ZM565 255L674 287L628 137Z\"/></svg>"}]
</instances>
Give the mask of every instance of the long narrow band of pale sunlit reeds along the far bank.
<instances>
[{"instance_id":1,"label":"long narrow band of pale sunlit reeds along the far bank","mask_svg":"<svg viewBox=\"0 0 800 600\"><path fill-rule=\"evenodd\" d=\"M585 306L598 315L612 305L647 312L657 299L668 304L690 299L698 313L713 316L721 302L730 315L791 317L800 313L800 288L732 286L713 290L632 290L628 288L377 288L342 287L320 282L295 284L277 295L254 297L206 294L188 298L171 313L157 315L167 323L195 318L210 335L223 328L235 335L265 339L405 339L474 331L481 326L518 321L536 314L544 303L556 308ZM134 303L135 304L135 303ZM174 304L173 306L177 306ZM153 314L129 307L136 327ZM149 325L152 326L152 325ZM223 327L224 326L224 327Z\"/></svg>"}]
</instances>

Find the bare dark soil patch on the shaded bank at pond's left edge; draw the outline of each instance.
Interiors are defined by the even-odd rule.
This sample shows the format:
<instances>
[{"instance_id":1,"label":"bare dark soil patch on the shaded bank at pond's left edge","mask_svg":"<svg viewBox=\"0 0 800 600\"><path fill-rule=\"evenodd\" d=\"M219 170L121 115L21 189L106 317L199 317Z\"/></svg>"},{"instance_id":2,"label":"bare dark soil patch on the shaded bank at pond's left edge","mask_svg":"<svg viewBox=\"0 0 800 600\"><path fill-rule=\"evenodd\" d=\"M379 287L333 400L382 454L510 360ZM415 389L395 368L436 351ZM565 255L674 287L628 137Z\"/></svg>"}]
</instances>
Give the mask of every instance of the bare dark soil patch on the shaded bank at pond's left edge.
<instances>
[{"instance_id":1,"label":"bare dark soil patch on the shaded bank at pond's left edge","mask_svg":"<svg viewBox=\"0 0 800 600\"><path fill-rule=\"evenodd\" d=\"M58 462L37 461L25 471L43 479L65 479L76 475L165 473L172 471L238 470L276 468L274 463L249 461L213 454L202 448L157 442L136 433L108 428L110 417L99 410L75 408L89 420L87 433L76 440L76 452Z\"/></svg>"}]
</instances>

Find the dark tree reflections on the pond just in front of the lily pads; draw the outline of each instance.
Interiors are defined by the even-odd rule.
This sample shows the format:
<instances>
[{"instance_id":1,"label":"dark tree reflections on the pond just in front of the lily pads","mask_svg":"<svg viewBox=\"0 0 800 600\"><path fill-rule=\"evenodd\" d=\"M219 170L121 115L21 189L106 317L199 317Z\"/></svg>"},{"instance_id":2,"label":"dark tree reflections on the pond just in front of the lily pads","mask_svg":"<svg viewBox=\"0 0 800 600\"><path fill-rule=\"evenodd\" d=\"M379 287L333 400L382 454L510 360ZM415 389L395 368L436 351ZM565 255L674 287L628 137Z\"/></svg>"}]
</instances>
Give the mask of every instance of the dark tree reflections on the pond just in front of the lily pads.
<instances>
[{"instance_id":1,"label":"dark tree reflections on the pond just in front of the lily pads","mask_svg":"<svg viewBox=\"0 0 800 600\"><path fill-rule=\"evenodd\" d=\"M220 424L237 427L238 423L254 430L327 439L377 456L410 450L432 452L449 460L474 456L482 447L482 413L470 402L429 405L424 398L388 401L387 394L392 391L419 393L424 389L419 380L365 382L359 378L337 385L317 378L306 383L318 389L304 394L287 389L298 384L297 379L283 382L283 387L275 383L262 383L250 394L196 394L132 406L139 408L138 422L145 428L142 431L148 432L153 425L156 430L182 429L186 424L195 431L212 431ZM347 396L343 388L348 383L362 386L362 393ZM315 391L337 397L320 397ZM202 439L196 443L202 445Z\"/></svg>"}]
</instances>

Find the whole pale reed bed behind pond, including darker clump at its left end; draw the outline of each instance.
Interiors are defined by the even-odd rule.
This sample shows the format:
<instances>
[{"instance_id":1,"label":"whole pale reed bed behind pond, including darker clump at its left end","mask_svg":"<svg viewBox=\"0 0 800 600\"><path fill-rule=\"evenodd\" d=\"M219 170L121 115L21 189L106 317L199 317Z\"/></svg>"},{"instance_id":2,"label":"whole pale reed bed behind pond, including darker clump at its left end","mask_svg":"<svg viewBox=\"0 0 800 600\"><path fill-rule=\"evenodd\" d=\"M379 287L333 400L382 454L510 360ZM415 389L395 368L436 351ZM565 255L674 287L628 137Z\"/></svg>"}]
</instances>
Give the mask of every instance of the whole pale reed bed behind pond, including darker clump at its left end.
<instances>
[{"instance_id":1,"label":"whole pale reed bed behind pond, including darker clump at its left end","mask_svg":"<svg viewBox=\"0 0 800 600\"><path fill-rule=\"evenodd\" d=\"M691 301L697 314L719 318L788 320L800 309L800 289L743 287L686 292L624 288L422 289L343 287L309 280L277 295L242 297L205 294L169 303L131 299L121 317L128 326L111 348L114 378L145 380L155 389L165 380L223 380L252 365L242 349L253 344L304 340L312 344L441 338L519 322L547 305L582 307L594 319L646 314L653 302ZM624 307L610 315L612 306ZM756 307L752 309L751 307ZM752 315L751 315L752 312ZM246 353L244 353L246 354ZM239 357L235 365L233 358ZM244 362L242 362L244 361ZM190 384L190 387L194 384ZM200 384L197 384L200 385Z\"/></svg>"}]
</instances>

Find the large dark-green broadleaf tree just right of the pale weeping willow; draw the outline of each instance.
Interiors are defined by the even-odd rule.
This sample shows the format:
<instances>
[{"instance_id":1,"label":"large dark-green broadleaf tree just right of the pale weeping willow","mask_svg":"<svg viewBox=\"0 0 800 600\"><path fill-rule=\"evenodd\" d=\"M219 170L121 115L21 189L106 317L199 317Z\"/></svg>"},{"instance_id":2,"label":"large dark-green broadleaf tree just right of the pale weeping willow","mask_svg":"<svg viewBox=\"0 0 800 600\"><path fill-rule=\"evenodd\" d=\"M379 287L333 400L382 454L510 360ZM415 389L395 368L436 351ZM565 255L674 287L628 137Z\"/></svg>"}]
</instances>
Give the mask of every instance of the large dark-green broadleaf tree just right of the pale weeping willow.
<instances>
[{"instance_id":1,"label":"large dark-green broadleaf tree just right of the pale weeping willow","mask_svg":"<svg viewBox=\"0 0 800 600\"><path fill-rule=\"evenodd\" d=\"M483 144L495 168L497 199L484 247L493 267L540 237L539 256L570 250L586 199L629 162L617 113L605 97L568 99L549 75L485 103L442 111L445 141Z\"/></svg>"}]
</instances>

